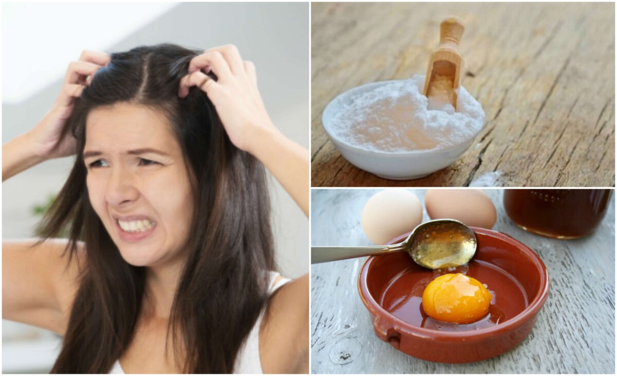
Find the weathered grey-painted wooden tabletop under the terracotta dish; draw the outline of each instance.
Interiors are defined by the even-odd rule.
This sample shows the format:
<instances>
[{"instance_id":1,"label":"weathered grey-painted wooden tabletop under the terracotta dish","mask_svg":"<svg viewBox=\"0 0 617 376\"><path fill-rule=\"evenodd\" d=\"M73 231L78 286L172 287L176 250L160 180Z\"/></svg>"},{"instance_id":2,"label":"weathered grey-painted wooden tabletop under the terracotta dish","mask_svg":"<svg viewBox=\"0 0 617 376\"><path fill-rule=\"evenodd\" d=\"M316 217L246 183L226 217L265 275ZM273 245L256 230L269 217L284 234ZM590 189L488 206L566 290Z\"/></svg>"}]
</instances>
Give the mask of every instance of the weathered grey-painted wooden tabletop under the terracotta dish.
<instances>
[{"instance_id":1,"label":"weathered grey-painted wooden tabletop under the terracotta dish","mask_svg":"<svg viewBox=\"0 0 617 376\"><path fill-rule=\"evenodd\" d=\"M377 190L312 190L312 245L370 245L362 209ZM424 190L412 190L424 202ZM579 240L553 240L516 227L502 190L494 230L534 249L550 293L531 334L507 353L469 364L441 364L400 353L379 340L358 295L366 257L312 265L311 372L314 374L615 373L615 196L600 227ZM428 215L424 211L424 220Z\"/></svg>"}]
</instances>

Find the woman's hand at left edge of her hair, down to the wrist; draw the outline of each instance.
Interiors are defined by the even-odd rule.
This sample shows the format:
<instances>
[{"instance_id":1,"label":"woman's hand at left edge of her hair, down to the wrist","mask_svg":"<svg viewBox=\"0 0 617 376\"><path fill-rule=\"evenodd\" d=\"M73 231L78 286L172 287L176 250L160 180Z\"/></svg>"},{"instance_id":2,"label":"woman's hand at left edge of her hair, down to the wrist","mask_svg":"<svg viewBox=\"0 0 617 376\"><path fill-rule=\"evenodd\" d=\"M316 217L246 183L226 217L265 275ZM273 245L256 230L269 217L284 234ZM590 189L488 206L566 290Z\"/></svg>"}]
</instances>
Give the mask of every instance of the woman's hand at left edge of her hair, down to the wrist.
<instances>
[{"instance_id":1,"label":"woman's hand at left edge of her hair, down to the wrist","mask_svg":"<svg viewBox=\"0 0 617 376\"><path fill-rule=\"evenodd\" d=\"M78 61L68 64L64 84L51 110L29 133L35 153L44 159L75 154L75 138L62 135L62 129L73 112L75 98L89 85L94 73L109 64L110 56L104 52L83 51Z\"/></svg>"}]
</instances>

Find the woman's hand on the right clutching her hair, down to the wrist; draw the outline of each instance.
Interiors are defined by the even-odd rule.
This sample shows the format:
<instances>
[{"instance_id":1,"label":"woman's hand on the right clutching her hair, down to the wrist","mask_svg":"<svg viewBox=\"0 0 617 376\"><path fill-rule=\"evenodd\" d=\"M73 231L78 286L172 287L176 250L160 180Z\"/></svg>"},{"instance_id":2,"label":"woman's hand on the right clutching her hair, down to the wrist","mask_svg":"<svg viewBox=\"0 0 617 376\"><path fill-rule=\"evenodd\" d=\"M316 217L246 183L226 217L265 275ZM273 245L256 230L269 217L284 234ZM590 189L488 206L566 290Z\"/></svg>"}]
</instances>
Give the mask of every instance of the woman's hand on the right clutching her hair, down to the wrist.
<instances>
[{"instance_id":1,"label":"woman's hand on the right clutching her hair, down to the wrist","mask_svg":"<svg viewBox=\"0 0 617 376\"><path fill-rule=\"evenodd\" d=\"M214 72L213 80L202 69ZM236 46L217 47L196 56L189 74L180 81L178 95L184 98L191 86L205 91L217 109L231 142L239 149L255 154L261 131L276 132L257 89L255 65L242 61Z\"/></svg>"}]
</instances>

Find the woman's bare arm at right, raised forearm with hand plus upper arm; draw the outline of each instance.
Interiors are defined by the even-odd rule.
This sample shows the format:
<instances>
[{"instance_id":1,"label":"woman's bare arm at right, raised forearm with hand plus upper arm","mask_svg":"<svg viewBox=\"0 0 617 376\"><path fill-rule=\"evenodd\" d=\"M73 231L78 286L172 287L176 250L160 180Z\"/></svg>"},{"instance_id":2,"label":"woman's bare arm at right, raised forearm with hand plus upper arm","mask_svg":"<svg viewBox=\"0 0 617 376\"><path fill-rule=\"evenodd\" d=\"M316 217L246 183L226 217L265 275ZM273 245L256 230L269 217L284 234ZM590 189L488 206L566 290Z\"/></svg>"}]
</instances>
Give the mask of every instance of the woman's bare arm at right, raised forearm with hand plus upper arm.
<instances>
[{"instance_id":1,"label":"woman's bare arm at right, raised forearm with hand plus upper arm","mask_svg":"<svg viewBox=\"0 0 617 376\"><path fill-rule=\"evenodd\" d=\"M206 74L210 71L217 81ZM235 46L209 49L191 60L178 95L184 98L191 86L208 95L231 142L259 159L308 216L309 151L271 122L255 66L242 61ZM259 342L264 372L309 372L309 275L287 283L271 298Z\"/></svg>"}]
</instances>

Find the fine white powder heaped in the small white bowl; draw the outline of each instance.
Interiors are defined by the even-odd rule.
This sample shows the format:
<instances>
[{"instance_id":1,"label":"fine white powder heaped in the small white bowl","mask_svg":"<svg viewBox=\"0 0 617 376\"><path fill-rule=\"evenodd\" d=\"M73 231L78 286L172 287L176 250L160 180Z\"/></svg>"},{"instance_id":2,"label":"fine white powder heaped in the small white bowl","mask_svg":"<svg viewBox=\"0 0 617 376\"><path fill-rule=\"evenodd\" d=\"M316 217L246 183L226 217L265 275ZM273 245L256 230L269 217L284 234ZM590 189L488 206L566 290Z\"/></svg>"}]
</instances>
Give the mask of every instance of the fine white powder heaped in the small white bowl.
<instances>
[{"instance_id":1,"label":"fine white powder heaped in the small white bowl","mask_svg":"<svg viewBox=\"0 0 617 376\"><path fill-rule=\"evenodd\" d=\"M455 112L449 101L452 83L446 80L433 81L430 109L422 95L423 75L376 86L340 105L331 132L348 144L382 152L447 149L465 143L482 129L484 111L459 86Z\"/></svg>"}]
</instances>

